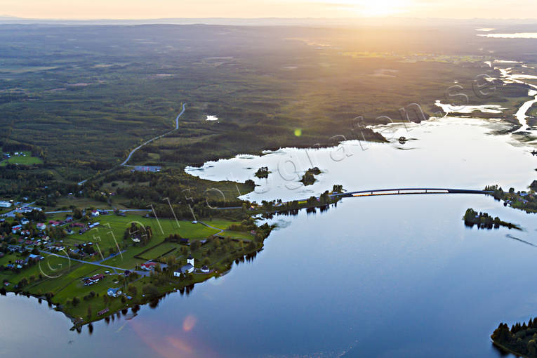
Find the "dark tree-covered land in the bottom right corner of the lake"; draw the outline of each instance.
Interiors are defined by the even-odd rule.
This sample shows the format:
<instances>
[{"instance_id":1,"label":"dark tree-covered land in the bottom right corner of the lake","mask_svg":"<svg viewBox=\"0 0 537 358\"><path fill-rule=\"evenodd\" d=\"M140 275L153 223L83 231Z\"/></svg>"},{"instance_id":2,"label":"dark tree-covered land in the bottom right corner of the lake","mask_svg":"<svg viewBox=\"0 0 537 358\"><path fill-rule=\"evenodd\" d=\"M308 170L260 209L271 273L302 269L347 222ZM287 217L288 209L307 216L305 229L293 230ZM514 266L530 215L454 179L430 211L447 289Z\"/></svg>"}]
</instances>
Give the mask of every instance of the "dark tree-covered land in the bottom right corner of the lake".
<instances>
[{"instance_id":1,"label":"dark tree-covered land in the bottom right corner of the lake","mask_svg":"<svg viewBox=\"0 0 537 358\"><path fill-rule=\"evenodd\" d=\"M500 323L492 333L493 343L507 352L526 358L537 357L537 319L529 319L525 322L513 324L511 328L505 323Z\"/></svg>"}]
</instances>

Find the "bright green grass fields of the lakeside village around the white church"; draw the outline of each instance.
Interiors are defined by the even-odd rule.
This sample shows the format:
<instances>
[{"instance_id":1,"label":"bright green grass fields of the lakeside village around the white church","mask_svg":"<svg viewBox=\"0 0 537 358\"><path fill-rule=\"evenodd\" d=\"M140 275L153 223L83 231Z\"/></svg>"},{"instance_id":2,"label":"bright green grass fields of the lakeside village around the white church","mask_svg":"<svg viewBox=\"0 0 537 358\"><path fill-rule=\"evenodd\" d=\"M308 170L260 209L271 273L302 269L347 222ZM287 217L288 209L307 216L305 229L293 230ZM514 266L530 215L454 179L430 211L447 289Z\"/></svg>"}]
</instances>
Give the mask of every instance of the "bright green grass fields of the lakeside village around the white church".
<instances>
[{"instance_id":1,"label":"bright green grass fields of the lakeside village around the white church","mask_svg":"<svg viewBox=\"0 0 537 358\"><path fill-rule=\"evenodd\" d=\"M41 260L36 265L25 266L20 272L12 272L11 270L0 272L0 279L6 279L11 283L10 286L6 286L6 289L13 290L15 284L20 283L22 279L27 279L28 283L22 287L22 290L37 296L44 296L46 293L51 293L53 294L53 303L61 305L62 310L69 314L70 317L87 322L88 307L91 307L93 310L91 320L101 318L97 316L96 312L105 307L108 307L110 312L119 310L122 307L128 307L130 303L125 303L119 300L119 298L109 299L102 297L107 296L107 289L121 287L123 285L122 282L124 281L121 281L123 270L133 270L136 265L145 263L147 260L156 260L161 256L164 256L161 258L161 262L163 263L171 259L175 260L176 265L184 265L188 253L194 256L196 260L195 267L199 268L207 264L213 270L225 271L232 260L234 260L234 257L241 257L245 253L248 253L246 244L253 244L251 242L253 241L253 235L247 232L225 231L222 233L225 239L215 239L213 235L221 230L206 227L201 223L193 224L190 221L157 220L133 213L129 213L126 216L117 216L115 214L103 215L94 218L93 221L98 221L100 226L84 234L68 235L61 240L62 246L65 246L66 251L68 251L69 248L74 248L75 244L88 244L92 242L94 246L98 245L105 258L110 255L110 248L114 248L114 251L117 251L117 246L119 246L123 251L120 255L106 260L102 260L100 255L96 255L91 260L82 263L73 259L41 253L44 256L44 260ZM153 237L147 245L135 246L131 239L123 239L124 232L131 223L152 227ZM222 219L212 220L209 223L215 225L215 227L222 227L223 229L230 227L232 224L237 224L236 222ZM181 237L190 239L190 244L200 239L209 238L209 241L203 246L198 243L198 246L201 246L199 248L191 248L179 242L165 241L170 234L175 233ZM233 239L239 239L239 241L234 241ZM256 250L257 248L258 246L254 244L253 248L249 249ZM62 251L58 254L63 256L65 252ZM141 258L135 257L138 255ZM0 258L0 265L6 265L24 258L25 256L20 253L8 254L4 258ZM102 261L103 265L118 267L119 270L111 267L98 266L100 261ZM112 273L105 274L106 271ZM83 279L91 277L94 274L105 274L105 278L96 284L85 286ZM159 292L166 293L178 286L204 281L215 274L197 273L192 277L183 279L181 285L179 285L177 279L166 279L166 282L160 282ZM173 275L170 277L173 277ZM140 277L140 279L133 280L131 284L137 287L138 292L141 292L143 286L152 284L152 278ZM75 305L73 302L78 299L81 303ZM145 302L145 298L138 294L134 302Z\"/></svg>"}]
</instances>

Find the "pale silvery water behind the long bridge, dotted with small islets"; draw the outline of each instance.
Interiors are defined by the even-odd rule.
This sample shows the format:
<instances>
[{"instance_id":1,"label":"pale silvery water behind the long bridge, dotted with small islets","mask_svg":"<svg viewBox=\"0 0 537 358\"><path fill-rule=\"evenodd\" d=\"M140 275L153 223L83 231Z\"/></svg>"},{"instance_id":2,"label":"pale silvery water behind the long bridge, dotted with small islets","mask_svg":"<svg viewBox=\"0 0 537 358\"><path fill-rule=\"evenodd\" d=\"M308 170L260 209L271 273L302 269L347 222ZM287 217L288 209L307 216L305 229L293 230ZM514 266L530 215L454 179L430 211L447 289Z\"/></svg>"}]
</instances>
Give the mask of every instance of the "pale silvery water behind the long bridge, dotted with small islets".
<instances>
[{"instance_id":1,"label":"pale silvery water behind the long bridge, dotted with small islets","mask_svg":"<svg viewBox=\"0 0 537 358\"><path fill-rule=\"evenodd\" d=\"M510 134L493 135L511 128L493 119L443 117L421 124L376 126L376 131L390 138L388 145L354 140L319 150L284 148L263 156L211 161L186 171L210 180L253 179L256 190L242 198L258 202L303 199L334 184L350 191L393 187L482 189L491 183L523 189L534 176L532 148L521 146ZM398 138L402 136L415 140L401 144ZM272 172L267 179L254 176L261 166ZM316 175L314 185L305 187L300 178L313 166L322 173Z\"/></svg>"}]
</instances>

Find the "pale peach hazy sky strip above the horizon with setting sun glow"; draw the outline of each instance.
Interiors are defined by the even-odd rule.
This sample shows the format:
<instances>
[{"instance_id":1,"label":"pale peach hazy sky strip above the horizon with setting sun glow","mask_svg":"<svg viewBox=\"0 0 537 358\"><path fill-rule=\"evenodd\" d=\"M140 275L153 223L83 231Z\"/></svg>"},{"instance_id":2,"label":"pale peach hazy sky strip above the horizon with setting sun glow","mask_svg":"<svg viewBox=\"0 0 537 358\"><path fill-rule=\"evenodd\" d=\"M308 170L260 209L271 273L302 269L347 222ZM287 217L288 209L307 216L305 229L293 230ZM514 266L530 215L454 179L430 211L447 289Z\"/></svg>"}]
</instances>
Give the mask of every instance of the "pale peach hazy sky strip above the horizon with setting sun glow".
<instances>
[{"instance_id":1,"label":"pale peach hazy sky strip above the horizon with setting sun glow","mask_svg":"<svg viewBox=\"0 0 537 358\"><path fill-rule=\"evenodd\" d=\"M0 0L22 18L537 18L536 0Z\"/></svg>"}]
</instances>

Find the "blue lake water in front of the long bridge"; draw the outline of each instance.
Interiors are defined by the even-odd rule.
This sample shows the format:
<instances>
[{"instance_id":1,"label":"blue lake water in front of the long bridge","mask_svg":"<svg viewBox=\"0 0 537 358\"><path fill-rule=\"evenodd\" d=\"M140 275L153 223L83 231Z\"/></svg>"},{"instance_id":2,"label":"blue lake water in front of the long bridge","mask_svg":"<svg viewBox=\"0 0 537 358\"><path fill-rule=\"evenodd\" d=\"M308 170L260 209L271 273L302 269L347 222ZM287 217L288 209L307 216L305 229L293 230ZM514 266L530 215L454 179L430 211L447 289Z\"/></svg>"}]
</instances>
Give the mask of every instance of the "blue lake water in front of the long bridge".
<instances>
[{"instance_id":1,"label":"blue lake water in front of the long bridge","mask_svg":"<svg viewBox=\"0 0 537 358\"><path fill-rule=\"evenodd\" d=\"M12 324L0 344L25 357L94 357L110 347L121 347L118 357L498 357L489 340L498 322L535 315L537 290L527 283L537 248L505 228L468 229L468 207L519 223L526 231L513 236L537 244L535 217L491 197L345 198L322 213L274 216L289 225L254 262L190 296L169 294L158 309L142 306L135 319L96 322L91 335L69 331L34 298L2 297ZM46 329L21 344L35 327Z\"/></svg>"}]
</instances>

